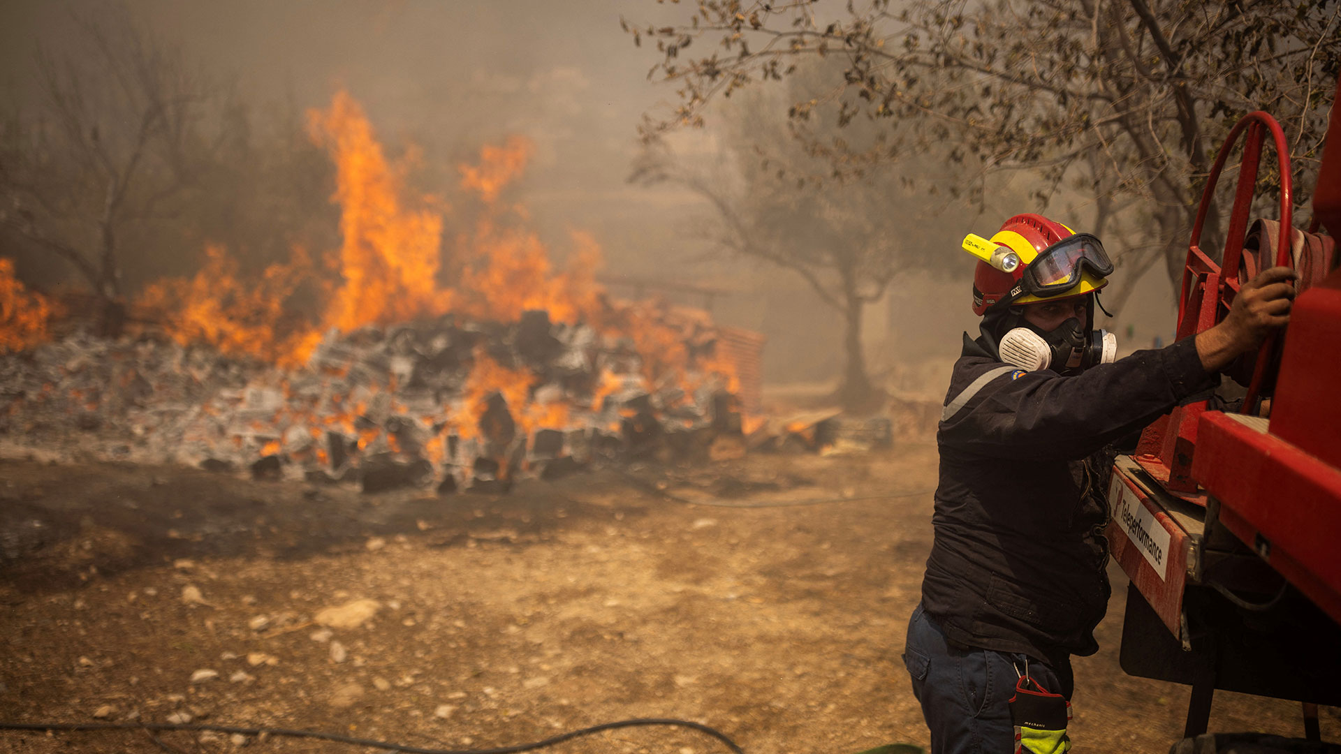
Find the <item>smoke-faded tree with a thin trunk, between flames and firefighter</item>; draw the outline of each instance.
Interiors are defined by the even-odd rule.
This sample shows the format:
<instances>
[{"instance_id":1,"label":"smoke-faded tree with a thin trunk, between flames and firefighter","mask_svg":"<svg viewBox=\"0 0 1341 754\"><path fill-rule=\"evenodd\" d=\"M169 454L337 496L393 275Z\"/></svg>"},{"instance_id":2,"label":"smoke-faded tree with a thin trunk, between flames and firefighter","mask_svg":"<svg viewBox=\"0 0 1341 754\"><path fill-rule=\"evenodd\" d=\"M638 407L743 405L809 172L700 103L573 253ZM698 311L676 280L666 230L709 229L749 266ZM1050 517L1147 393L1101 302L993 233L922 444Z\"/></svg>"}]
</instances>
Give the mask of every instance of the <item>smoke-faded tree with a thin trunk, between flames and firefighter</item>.
<instances>
[{"instance_id":1,"label":"smoke-faded tree with a thin trunk, between flames and firefighter","mask_svg":"<svg viewBox=\"0 0 1341 754\"><path fill-rule=\"evenodd\" d=\"M721 152L712 156L713 166L691 164L654 140L636 160L629 180L691 189L712 208L707 240L806 280L843 321L837 397L849 411L869 409L880 390L870 381L862 347L866 306L885 297L902 272L953 266L957 255L944 254L948 239L935 232L933 216L945 201L936 196L936 182L915 185L892 172L823 180L827 160L817 157L784 121L772 118L762 99L732 105L715 131ZM916 173L927 165L908 157L901 166Z\"/></svg>"}]
</instances>

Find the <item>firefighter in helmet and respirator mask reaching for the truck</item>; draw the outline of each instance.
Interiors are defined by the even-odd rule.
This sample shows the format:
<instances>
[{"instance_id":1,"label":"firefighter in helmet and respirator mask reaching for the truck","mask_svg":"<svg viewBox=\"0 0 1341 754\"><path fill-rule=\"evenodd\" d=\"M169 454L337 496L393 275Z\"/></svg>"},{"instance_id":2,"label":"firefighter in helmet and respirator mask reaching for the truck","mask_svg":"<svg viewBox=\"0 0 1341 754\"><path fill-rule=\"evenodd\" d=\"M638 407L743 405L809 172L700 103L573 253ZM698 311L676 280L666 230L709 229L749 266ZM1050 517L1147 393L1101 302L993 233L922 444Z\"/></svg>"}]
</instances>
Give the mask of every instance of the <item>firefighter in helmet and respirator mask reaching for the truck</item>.
<instances>
[{"instance_id":1,"label":"firefighter in helmet and respirator mask reaching for the truck","mask_svg":"<svg viewBox=\"0 0 1341 754\"><path fill-rule=\"evenodd\" d=\"M1070 656L1098 649L1110 594L1110 443L1214 389L1283 326L1294 272L1244 283L1195 338L1114 361L1093 329L1113 271L1097 237L1018 215L964 248L980 259L980 334L964 334L936 432L935 542L904 661L933 754L1066 751Z\"/></svg>"}]
</instances>

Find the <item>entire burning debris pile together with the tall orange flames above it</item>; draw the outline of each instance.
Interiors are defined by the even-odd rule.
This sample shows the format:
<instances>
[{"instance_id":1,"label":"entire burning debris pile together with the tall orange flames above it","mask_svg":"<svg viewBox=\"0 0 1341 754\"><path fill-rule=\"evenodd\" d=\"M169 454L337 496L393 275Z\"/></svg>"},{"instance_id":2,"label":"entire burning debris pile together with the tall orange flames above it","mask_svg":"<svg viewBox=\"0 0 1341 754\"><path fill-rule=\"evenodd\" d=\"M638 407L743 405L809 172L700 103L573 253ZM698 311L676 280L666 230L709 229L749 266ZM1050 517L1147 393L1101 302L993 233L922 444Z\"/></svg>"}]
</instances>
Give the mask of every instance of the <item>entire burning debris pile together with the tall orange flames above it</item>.
<instances>
[{"instance_id":1,"label":"entire burning debris pile together with the tall orange flames above it","mask_svg":"<svg viewBox=\"0 0 1341 754\"><path fill-rule=\"evenodd\" d=\"M526 211L500 200L526 140L460 166L463 216L408 196L408 166L347 94L308 125L335 164L341 247L295 246L252 276L209 247L194 278L135 302L157 329L0 357L8 443L447 492L739 439L735 341L703 313L611 301L582 233L555 268ZM468 229L448 235L448 219ZM50 315L31 314L19 347Z\"/></svg>"}]
</instances>

